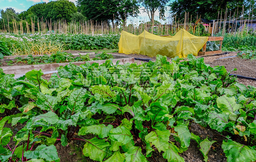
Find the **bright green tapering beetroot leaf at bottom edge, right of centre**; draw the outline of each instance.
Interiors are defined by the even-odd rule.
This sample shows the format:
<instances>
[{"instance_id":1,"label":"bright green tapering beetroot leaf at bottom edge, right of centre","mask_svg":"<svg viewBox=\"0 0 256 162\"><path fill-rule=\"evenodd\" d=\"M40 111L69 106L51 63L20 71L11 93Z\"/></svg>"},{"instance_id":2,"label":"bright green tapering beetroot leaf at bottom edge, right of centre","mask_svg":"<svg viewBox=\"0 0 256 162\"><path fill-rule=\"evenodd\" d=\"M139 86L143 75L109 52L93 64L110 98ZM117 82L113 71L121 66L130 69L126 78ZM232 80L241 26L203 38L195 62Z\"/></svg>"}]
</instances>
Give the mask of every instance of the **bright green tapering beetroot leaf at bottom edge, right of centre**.
<instances>
[{"instance_id":1,"label":"bright green tapering beetroot leaf at bottom edge, right of centre","mask_svg":"<svg viewBox=\"0 0 256 162\"><path fill-rule=\"evenodd\" d=\"M168 144L168 149L163 153L163 157L168 160L168 162L185 162L184 158L180 157L178 154L179 148L173 143Z\"/></svg>"}]
</instances>

